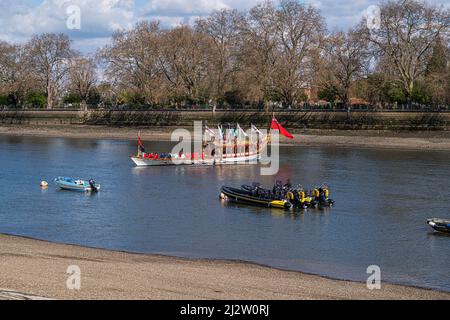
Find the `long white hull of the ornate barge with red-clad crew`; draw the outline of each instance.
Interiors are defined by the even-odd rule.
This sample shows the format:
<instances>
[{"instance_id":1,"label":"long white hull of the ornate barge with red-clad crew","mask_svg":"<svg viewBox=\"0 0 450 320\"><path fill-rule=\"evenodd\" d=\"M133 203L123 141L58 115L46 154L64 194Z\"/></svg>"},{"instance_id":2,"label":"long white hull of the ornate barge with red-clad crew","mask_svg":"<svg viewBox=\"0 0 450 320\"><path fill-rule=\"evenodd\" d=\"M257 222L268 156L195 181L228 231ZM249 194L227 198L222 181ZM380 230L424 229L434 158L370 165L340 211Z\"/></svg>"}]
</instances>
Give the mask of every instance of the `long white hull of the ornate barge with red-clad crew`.
<instances>
[{"instance_id":1,"label":"long white hull of the ornate barge with red-clad crew","mask_svg":"<svg viewBox=\"0 0 450 320\"><path fill-rule=\"evenodd\" d=\"M240 157L227 157L227 158L213 158L213 159L199 159L199 160L189 160L189 159L145 159L142 157L131 157L131 160L138 167L146 166L187 166L187 165L197 165L197 166L213 166L213 165L223 165L223 164L251 164L258 163L261 159L260 154L240 156Z\"/></svg>"}]
</instances>

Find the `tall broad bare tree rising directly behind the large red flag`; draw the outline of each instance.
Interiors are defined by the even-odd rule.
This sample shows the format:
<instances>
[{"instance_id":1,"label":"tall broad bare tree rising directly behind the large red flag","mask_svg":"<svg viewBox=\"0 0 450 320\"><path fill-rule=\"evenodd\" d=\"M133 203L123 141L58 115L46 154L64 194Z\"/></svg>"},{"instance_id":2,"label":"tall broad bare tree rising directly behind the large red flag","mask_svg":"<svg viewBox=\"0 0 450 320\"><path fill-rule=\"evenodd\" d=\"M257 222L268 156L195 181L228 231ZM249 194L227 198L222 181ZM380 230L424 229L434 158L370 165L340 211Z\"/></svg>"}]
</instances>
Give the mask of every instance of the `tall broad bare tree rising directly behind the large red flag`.
<instances>
[{"instance_id":1,"label":"tall broad bare tree rising directly behind the large red flag","mask_svg":"<svg viewBox=\"0 0 450 320\"><path fill-rule=\"evenodd\" d=\"M250 11L244 41L250 49L247 66L269 99L293 106L312 78L312 53L319 47L325 24L319 11L296 0L257 5Z\"/></svg>"}]
</instances>

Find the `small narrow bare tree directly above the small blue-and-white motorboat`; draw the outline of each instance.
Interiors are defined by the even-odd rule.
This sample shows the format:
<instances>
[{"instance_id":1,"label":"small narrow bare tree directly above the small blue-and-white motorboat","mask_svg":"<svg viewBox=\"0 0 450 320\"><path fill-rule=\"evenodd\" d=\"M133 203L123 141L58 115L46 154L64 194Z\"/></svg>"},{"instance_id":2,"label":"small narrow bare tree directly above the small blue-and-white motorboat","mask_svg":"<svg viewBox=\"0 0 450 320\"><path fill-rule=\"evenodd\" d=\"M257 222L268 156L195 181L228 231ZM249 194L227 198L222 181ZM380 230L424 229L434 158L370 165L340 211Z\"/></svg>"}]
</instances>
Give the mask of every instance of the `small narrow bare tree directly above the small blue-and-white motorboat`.
<instances>
[{"instance_id":1,"label":"small narrow bare tree directly above the small blue-and-white motorboat","mask_svg":"<svg viewBox=\"0 0 450 320\"><path fill-rule=\"evenodd\" d=\"M87 110L86 101L97 81L96 65L92 59L77 57L70 64L70 86L81 99L81 108Z\"/></svg>"}]
</instances>

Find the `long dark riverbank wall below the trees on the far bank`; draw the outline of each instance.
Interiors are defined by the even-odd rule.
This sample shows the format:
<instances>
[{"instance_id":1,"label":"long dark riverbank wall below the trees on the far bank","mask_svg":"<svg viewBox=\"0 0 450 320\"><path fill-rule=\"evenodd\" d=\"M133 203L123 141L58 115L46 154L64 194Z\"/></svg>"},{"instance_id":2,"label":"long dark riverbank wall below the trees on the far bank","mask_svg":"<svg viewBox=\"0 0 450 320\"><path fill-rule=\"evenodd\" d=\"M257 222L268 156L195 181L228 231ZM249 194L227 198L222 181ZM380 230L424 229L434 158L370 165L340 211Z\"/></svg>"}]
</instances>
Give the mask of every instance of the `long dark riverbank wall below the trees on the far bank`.
<instances>
[{"instance_id":1,"label":"long dark riverbank wall below the trees on the far bank","mask_svg":"<svg viewBox=\"0 0 450 320\"><path fill-rule=\"evenodd\" d=\"M218 123L253 123L265 127L272 113L261 111L74 111L18 110L0 111L3 125L103 125L113 127L192 126L203 121ZM447 112L275 112L277 119L291 129L446 131L450 129Z\"/></svg>"}]
</instances>

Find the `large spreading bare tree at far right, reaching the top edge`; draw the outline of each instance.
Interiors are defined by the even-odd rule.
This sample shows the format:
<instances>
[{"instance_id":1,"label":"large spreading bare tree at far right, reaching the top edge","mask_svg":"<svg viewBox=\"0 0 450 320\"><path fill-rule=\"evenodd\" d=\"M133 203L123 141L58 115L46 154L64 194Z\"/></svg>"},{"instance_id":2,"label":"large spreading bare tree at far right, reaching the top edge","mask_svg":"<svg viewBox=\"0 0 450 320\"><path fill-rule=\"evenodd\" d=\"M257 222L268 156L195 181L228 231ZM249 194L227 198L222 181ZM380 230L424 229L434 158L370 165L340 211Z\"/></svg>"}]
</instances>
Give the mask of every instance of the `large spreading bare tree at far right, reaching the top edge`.
<instances>
[{"instance_id":1,"label":"large spreading bare tree at far right, reaching the top edge","mask_svg":"<svg viewBox=\"0 0 450 320\"><path fill-rule=\"evenodd\" d=\"M375 53L384 57L397 73L398 81L411 96L417 80L424 75L433 44L448 34L449 10L416 0L390 1L381 6L379 29L365 29Z\"/></svg>"}]
</instances>

